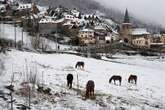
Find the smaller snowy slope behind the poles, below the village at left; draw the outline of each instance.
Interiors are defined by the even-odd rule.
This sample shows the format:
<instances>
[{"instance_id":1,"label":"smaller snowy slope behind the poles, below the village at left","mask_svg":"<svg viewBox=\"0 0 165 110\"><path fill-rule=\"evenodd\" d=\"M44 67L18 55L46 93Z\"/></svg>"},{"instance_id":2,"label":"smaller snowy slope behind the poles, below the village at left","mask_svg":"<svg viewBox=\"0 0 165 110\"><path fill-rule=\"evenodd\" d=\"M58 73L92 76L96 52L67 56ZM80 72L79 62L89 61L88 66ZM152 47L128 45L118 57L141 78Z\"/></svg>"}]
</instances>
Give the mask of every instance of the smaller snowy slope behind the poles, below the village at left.
<instances>
[{"instance_id":1,"label":"smaller snowy slope behind the poles, below the village at left","mask_svg":"<svg viewBox=\"0 0 165 110\"><path fill-rule=\"evenodd\" d=\"M16 41L22 41L22 34L23 34L23 43L24 47L33 48L32 40L34 37L30 36L27 32L22 33L22 27L17 26L16 28ZM15 40L15 29L14 26L11 24L0 24L0 38L4 38L7 40ZM69 50L70 46L56 44L56 42L51 41L47 38L40 38L40 47L41 45L46 46L46 50L48 51L55 51L57 49L57 45L60 46L60 50Z\"/></svg>"}]
</instances>

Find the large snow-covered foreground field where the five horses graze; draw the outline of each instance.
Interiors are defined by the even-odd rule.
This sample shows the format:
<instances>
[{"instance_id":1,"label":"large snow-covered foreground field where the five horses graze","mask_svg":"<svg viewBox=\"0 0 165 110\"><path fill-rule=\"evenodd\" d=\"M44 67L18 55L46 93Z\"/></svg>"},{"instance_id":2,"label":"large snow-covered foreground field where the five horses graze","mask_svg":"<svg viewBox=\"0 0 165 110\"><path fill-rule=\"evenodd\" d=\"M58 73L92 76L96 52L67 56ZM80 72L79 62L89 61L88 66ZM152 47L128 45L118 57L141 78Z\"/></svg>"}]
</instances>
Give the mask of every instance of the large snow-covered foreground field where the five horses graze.
<instances>
[{"instance_id":1,"label":"large snow-covered foreground field where the five horses graze","mask_svg":"<svg viewBox=\"0 0 165 110\"><path fill-rule=\"evenodd\" d=\"M109 61L67 54L36 54L12 50L0 54L0 90L11 82L15 72L15 89L25 80L30 70L37 73L39 83L52 89L52 96L37 94L32 98L32 110L165 110L165 61L141 56L116 56ZM75 69L77 61L85 62L85 69ZM73 89L66 87L66 76L74 75ZM128 84L130 74L138 76L137 85ZM79 89L77 92L77 75ZM109 84L112 75L121 75L122 84ZM42 78L43 76L43 78ZM88 80L95 82L95 100L83 100ZM78 93L78 94L77 94ZM14 94L14 105L26 103ZM52 102L53 100L53 102ZM0 109L8 110L7 102L0 98Z\"/></svg>"}]
</instances>

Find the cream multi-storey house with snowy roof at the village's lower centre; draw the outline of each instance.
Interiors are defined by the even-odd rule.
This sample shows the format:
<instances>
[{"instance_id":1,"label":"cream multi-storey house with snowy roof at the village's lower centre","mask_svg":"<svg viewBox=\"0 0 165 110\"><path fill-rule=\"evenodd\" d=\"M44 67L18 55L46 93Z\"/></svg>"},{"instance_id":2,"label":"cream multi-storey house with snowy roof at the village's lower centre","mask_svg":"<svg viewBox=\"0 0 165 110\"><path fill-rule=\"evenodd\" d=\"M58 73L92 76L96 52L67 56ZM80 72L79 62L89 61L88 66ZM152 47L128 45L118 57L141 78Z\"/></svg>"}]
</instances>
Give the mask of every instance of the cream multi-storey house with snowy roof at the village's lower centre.
<instances>
[{"instance_id":1,"label":"cream multi-storey house with snowy roof at the village's lower centre","mask_svg":"<svg viewBox=\"0 0 165 110\"><path fill-rule=\"evenodd\" d=\"M79 37L80 44L87 45L87 44L96 43L96 39L94 36L94 30L92 30L92 29L86 28L86 29L80 30L78 37Z\"/></svg>"}]
</instances>

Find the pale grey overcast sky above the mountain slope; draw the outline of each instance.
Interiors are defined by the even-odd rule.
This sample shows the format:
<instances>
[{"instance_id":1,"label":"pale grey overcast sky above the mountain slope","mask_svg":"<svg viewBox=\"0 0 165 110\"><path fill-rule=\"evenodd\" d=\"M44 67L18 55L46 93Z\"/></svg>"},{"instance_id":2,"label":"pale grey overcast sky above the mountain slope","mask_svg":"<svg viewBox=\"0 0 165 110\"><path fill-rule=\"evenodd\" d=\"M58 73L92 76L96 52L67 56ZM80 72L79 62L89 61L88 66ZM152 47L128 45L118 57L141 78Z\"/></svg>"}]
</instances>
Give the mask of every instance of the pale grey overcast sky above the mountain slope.
<instances>
[{"instance_id":1,"label":"pale grey overcast sky above the mountain slope","mask_svg":"<svg viewBox=\"0 0 165 110\"><path fill-rule=\"evenodd\" d=\"M165 27L165 0L96 0L106 6L128 11L139 18Z\"/></svg>"}]
</instances>

